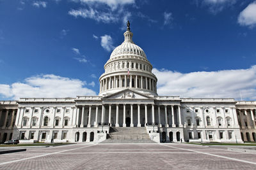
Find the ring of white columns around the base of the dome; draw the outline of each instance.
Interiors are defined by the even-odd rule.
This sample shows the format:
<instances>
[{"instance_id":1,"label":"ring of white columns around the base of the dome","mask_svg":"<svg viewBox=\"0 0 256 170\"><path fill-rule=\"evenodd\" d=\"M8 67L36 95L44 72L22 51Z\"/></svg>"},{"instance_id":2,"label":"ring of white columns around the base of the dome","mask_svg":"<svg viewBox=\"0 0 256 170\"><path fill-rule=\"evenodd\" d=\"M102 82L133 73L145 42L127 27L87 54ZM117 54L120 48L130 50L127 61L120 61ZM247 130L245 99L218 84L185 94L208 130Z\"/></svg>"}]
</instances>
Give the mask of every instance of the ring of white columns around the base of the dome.
<instances>
[{"instance_id":1,"label":"ring of white columns around the base of the dome","mask_svg":"<svg viewBox=\"0 0 256 170\"><path fill-rule=\"evenodd\" d=\"M156 92L156 80L147 76L125 74L119 76L109 76L100 81L100 92L110 89L121 88L147 89Z\"/></svg>"}]
</instances>

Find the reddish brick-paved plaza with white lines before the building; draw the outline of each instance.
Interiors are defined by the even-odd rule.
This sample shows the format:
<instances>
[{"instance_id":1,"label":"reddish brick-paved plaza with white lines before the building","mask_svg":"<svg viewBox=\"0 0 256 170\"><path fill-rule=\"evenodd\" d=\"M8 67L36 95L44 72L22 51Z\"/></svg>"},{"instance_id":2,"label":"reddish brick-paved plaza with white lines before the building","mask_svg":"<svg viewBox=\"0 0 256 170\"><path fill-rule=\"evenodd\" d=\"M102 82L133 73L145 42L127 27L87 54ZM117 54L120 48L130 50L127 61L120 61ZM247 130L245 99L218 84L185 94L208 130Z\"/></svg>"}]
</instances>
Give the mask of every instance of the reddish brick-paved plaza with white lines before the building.
<instances>
[{"instance_id":1,"label":"reddish brick-paved plaza with white lines before the building","mask_svg":"<svg viewBox=\"0 0 256 170\"><path fill-rule=\"evenodd\" d=\"M188 144L76 144L0 155L0 169L256 169L256 154Z\"/></svg>"}]
</instances>

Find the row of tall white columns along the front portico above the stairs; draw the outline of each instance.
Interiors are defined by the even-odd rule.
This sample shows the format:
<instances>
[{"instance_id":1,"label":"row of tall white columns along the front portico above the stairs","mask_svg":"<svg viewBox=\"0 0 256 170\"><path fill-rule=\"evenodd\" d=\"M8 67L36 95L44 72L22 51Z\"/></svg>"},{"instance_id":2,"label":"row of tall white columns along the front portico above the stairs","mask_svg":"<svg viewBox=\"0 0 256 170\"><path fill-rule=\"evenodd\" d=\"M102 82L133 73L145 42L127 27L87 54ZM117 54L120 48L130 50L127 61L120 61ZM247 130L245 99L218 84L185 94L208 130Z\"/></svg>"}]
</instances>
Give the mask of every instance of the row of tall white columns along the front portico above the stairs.
<instances>
[{"instance_id":1,"label":"row of tall white columns along the front portico above the stairs","mask_svg":"<svg viewBox=\"0 0 256 170\"><path fill-rule=\"evenodd\" d=\"M98 115L99 115L99 107L102 107L101 108L101 120L99 121L98 120ZM123 127L126 127L127 124L126 124L126 118L127 118L127 112L128 114L131 113L131 115L129 115L129 118L131 118L131 122L129 122L130 124L128 126L131 126L131 127L134 127L134 126L137 126L137 127L141 127L141 106L144 108L144 113L145 113L145 126L146 125L154 125L154 124L158 124L159 127L162 127L162 124L161 124L161 107L163 108L164 107L164 118L165 118L165 124L164 124L164 127L169 127L169 124L168 124L168 113L171 113L170 114L170 117L172 117L172 124L171 124L171 127L182 127L182 122L181 122L181 115L180 115L180 106L177 105L177 124L175 124L175 117L174 117L174 105L155 105L155 104L103 104L103 105L95 105L95 125L105 125L105 124L109 124L111 126L113 126L111 124L111 114L112 113L112 106L116 106L116 111L115 111L115 118L116 118L116 121L115 121L115 127L120 127L120 126L123 126ZM120 106L123 107L123 113L120 113ZM127 109L127 106L130 106L128 109ZM137 125L134 125L134 106L137 106L137 116L138 116L138 124ZM148 106L151 107L151 113L148 112ZM168 112L168 106L171 107L171 111ZM84 117L85 117L85 108L89 107L88 109L88 124L85 125L84 124ZM94 108L94 107L93 107ZM76 125L79 126L79 127L92 127L92 105L87 105L87 106L82 106L82 113L81 113L81 117L79 117L79 108L77 108L77 116L76 116ZM108 111L109 111L109 114L108 114L108 122L105 122L105 115L106 115L106 109L108 108ZM158 114L158 121L156 122L155 120L155 108L157 110L157 114ZM120 125L119 121L120 121L120 114L123 114L123 124ZM151 120L152 122L148 122L148 116L149 117L152 117ZM79 121L79 118L81 118L81 121ZM81 122L80 125L78 125L78 123Z\"/></svg>"}]
</instances>

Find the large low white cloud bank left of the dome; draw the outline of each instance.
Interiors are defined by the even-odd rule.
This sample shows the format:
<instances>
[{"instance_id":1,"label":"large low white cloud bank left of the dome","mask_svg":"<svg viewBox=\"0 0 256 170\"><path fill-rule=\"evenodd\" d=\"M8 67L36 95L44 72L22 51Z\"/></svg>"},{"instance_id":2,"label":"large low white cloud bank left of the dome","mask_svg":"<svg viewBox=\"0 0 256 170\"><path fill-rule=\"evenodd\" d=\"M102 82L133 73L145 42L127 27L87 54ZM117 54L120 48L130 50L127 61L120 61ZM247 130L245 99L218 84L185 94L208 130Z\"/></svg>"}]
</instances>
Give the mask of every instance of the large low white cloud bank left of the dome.
<instances>
[{"instance_id":1,"label":"large low white cloud bank left of the dome","mask_svg":"<svg viewBox=\"0 0 256 170\"><path fill-rule=\"evenodd\" d=\"M76 97L95 96L96 93L84 87L85 81L45 74L26 78L24 82L12 85L0 84L0 94L4 97L19 99L20 97Z\"/></svg>"}]
</instances>

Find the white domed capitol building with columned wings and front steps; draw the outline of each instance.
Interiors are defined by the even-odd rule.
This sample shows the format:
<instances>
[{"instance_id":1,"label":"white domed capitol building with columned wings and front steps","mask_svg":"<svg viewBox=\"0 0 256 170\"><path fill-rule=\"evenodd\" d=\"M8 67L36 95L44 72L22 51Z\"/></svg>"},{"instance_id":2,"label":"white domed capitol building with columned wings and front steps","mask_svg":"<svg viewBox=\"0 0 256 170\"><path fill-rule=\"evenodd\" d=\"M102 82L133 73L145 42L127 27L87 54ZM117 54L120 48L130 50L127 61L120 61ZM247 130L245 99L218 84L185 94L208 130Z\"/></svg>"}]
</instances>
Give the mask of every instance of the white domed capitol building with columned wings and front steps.
<instances>
[{"instance_id":1,"label":"white domed capitol building with columned wings and front steps","mask_svg":"<svg viewBox=\"0 0 256 170\"><path fill-rule=\"evenodd\" d=\"M0 142L256 141L255 101L158 96L152 64L132 37L128 25L99 96L0 101Z\"/></svg>"}]
</instances>

